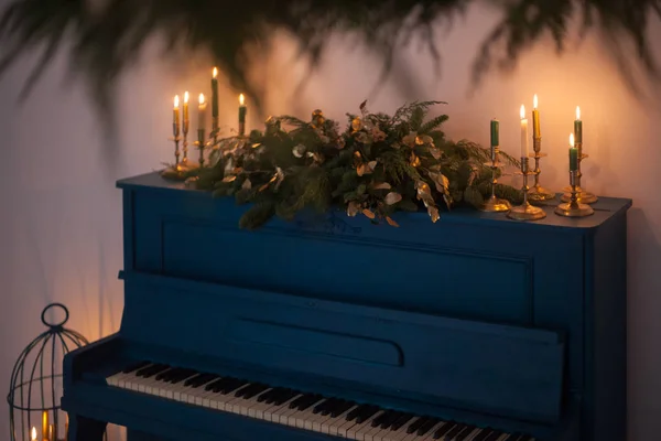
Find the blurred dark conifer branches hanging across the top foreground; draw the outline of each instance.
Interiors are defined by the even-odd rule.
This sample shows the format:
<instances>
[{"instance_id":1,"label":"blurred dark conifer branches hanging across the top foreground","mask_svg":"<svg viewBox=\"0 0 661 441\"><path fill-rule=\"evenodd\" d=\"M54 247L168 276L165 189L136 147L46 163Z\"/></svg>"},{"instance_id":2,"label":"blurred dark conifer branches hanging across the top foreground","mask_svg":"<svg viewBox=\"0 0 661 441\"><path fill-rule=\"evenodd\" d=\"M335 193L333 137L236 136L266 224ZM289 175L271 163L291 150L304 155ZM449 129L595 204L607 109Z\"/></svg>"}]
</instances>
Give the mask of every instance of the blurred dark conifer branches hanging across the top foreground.
<instances>
[{"instance_id":1,"label":"blurred dark conifer branches hanging across the top foreground","mask_svg":"<svg viewBox=\"0 0 661 441\"><path fill-rule=\"evenodd\" d=\"M318 62L332 32L356 32L383 55L388 67L397 44L405 44L413 34L426 41L430 55L437 60L435 23L452 20L475 1L10 0L0 12L0 73L23 53L43 45L43 60L35 69L47 68L47 61L66 44L74 69L88 75L99 101L109 101L113 79L139 57L151 36L160 35L172 44L207 50L234 86L259 100L241 55L246 43L266 43L273 28L296 36L302 53L313 62ZM659 76L648 32L650 21L661 17L661 0L481 1L500 8L502 19L477 54L476 80L494 67L511 67L523 50L544 35L562 50L575 18L584 33L597 29L614 42L632 43L641 65Z\"/></svg>"}]
</instances>

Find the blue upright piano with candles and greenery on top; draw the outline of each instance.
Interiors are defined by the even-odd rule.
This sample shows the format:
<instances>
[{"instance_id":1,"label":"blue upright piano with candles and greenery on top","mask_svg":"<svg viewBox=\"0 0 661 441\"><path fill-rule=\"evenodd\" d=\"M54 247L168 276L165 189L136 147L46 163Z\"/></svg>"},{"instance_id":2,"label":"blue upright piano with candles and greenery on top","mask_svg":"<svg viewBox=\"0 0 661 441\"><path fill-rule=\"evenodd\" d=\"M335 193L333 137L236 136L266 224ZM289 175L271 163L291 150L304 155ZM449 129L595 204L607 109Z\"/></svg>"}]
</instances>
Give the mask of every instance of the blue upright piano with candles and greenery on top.
<instances>
[{"instance_id":1,"label":"blue upright piano with candles and greenery on top","mask_svg":"<svg viewBox=\"0 0 661 441\"><path fill-rule=\"evenodd\" d=\"M631 201L238 228L162 180L123 192L118 333L69 353L69 441L622 441Z\"/></svg>"}]
</instances>

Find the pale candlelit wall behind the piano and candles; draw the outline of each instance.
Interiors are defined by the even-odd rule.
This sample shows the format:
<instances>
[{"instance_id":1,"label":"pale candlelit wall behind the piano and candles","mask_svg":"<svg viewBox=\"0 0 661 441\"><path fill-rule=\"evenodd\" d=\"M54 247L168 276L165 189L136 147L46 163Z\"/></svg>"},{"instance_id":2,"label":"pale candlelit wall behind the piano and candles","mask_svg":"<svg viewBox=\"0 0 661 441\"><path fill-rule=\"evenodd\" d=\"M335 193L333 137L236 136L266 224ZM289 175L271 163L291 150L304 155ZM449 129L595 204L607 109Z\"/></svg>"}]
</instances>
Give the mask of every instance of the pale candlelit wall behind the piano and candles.
<instances>
[{"instance_id":1,"label":"pale candlelit wall behind the piano and candles","mask_svg":"<svg viewBox=\"0 0 661 441\"><path fill-rule=\"evenodd\" d=\"M571 46L556 57L542 44L522 60L510 76L492 75L470 89L469 66L494 15L472 10L454 30L438 36L442 77L435 79L424 52L411 47L398 56L409 80L391 80L370 100L372 110L391 111L405 100L441 99L451 116L453 138L488 142L488 121L501 121L501 144L518 154L518 110L540 97L543 182L559 189L566 181L566 140L573 112L581 105L584 120L585 184L606 196L633 198L629 213L629 423L630 441L653 439L661 431L661 100L641 103L632 97L596 40ZM654 36L661 35L660 26ZM279 39L278 52L256 66L268 80L271 114L306 117L322 108L344 121L368 97L379 77L372 56L351 43L333 40L322 69L294 94L304 66L292 65L292 45ZM658 51L661 52L661 51ZM176 69L145 58L122 80L120 142L109 168L101 155L102 139L82 86L64 88L65 63L59 58L22 107L18 88L31 64L13 68L0 79L0 133L3 172L0 173L0 378L7 385L13 361L42 331L39 314L48 301L72 310L71 325L90 340L119 325L122 308L121 206L118 178L159 168L170 160L172 95L188 88L208 90L208 64L186 58ZM661 60L661 58L660 58ZM657 87L658 89L658 87ZM223 90L225 123L236 118L238 90ZM254 112L252 123L258 123ZM7 413L0 408L0 433L7 433Z\"/></svg>"}]
</instances>

